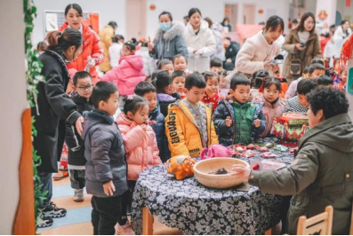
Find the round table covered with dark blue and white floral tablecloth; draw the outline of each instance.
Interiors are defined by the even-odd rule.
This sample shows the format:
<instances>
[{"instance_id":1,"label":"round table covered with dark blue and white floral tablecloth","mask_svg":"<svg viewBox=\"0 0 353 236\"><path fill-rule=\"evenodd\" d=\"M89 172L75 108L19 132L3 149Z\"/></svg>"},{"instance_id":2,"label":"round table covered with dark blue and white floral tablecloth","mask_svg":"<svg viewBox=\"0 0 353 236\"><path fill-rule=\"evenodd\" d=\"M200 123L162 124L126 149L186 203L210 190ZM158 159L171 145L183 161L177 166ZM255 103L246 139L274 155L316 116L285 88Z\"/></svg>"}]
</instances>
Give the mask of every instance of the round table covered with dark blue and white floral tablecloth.
<instances>
[{"instance_id":1,"label":"round table covered with dark blue and white floral tablecloth","mask_svg":"<svg viewBox=\"0 0 353 236\"><path fill-rule=\"evenodd\" d=\"M288 152L272 152L286 165L294 159ZM261 160L258 154L244 161ZM195 177L176 181L160 165L140 175L133 194L132 229L142 233L142 209L148 208L160 223L186 235L259 235L279 223L281 202L281 197L254 186L242 192L206 188Z\"/></svg>"}]
</instances>

